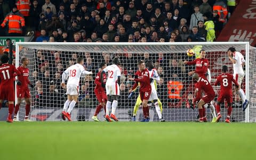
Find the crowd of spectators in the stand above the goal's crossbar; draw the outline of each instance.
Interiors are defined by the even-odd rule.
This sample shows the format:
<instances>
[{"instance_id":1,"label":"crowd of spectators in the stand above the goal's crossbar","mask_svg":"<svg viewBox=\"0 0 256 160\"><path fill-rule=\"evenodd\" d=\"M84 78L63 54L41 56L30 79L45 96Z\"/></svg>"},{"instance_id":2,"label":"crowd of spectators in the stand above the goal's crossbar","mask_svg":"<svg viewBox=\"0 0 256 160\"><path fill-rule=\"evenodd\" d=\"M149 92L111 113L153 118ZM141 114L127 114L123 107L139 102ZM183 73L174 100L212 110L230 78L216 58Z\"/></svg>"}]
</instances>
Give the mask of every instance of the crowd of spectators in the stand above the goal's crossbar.
<instances>
[{"instance_id":1,"label":"crowd of spectators in the stand above the goal's crossbar","mask_svg":"<svg viewBox=\"0 0 256 160\"><path fill-rule=\"evenodd\" d=\"M211 42L227 21L227 3L229 12L233 12L231 2L235 2L16 1L0 0L3 9L0 10L1 27L11 36L22 35L30 30L39 31L41 35L36 38L37 42ZM16 22L8 23L6 18L11 14L15 15Z\"/></svg>"}]
</instances>

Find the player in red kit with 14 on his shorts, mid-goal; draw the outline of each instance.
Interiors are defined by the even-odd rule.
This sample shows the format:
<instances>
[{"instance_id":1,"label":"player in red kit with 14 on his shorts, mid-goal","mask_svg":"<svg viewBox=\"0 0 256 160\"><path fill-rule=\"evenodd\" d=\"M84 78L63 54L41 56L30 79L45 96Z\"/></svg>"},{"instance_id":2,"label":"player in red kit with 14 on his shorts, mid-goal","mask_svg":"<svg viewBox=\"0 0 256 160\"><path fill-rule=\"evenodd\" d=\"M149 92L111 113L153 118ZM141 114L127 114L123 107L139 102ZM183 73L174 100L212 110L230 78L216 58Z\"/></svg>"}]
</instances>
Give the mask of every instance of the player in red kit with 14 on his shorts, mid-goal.
<instances>
[{"instance_id":1,"label":"player in red kit with 14 on his shorts, mid-goal","mask_svg":"<svg viewBox=\"0 0 256 160\"><path fill-rule=\"evenodd\" d=\"M129 93L131 93L140 83L140 99L142 101L142 110L145 118L143 122L149 122L148 99L151 94L150 75L143 61L139 61L138 67L139 70L134 76L135 84L132 86L132 89L129 90Z\"/></svg>"}]
</instances>

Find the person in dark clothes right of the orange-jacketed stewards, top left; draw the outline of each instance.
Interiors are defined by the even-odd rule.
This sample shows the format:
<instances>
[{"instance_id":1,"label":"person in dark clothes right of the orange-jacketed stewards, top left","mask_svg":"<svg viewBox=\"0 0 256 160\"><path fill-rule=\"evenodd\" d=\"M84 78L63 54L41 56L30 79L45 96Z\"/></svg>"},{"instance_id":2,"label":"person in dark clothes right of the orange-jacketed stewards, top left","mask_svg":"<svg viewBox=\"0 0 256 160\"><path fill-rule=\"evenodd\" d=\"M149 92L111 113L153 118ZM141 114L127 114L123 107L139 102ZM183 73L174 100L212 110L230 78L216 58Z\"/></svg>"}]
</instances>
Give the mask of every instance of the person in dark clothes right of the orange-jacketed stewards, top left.
<instances>
[{"instance_id":1,"label":"person in dark clothes right of the orange-jacketed stewards, top left","mask_svg":"<svg viewBox=\"0 0 256 160\"><path fill-rule=\"evenodd\" d=\"M1 0L0 0L1 1ZM33 5L31 5L30 9L29 9L29 26L33 29L33 30L38 30L38 26L39 26L39 14L42 12L42 8L38 6L38 1L34 0L33 1Z\"/></svg>"}]
</instances>

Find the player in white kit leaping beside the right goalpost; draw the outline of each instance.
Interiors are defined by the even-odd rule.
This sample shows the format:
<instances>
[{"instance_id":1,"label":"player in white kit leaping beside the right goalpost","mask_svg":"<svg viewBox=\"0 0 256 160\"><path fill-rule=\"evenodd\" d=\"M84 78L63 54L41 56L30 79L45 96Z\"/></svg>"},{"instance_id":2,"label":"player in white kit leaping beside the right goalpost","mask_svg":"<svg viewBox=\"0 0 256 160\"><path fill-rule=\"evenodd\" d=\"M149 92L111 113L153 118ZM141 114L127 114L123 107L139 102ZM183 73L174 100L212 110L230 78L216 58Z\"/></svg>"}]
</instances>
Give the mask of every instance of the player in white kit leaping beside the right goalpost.
<instances>
[{"instance_id":1,"label":"player in white kit leaping beside the right goalpost","mask_svg":"<svg viewBox=\"0 0 256 160\"><path fill-rule=\"evenodd\" d=\"M239 84L236 90L243 101L243 111L245 111L245 109L249 105L249 101L246 100L244 90L241 89L241 84L244 79L244 70L243 70L243 66L245 63L244 56L240 52L237 52L235 47L230 47L228 49L228 58L233 63L233 76L234 76L234 79Z\"/></svg>"}]
</instances>

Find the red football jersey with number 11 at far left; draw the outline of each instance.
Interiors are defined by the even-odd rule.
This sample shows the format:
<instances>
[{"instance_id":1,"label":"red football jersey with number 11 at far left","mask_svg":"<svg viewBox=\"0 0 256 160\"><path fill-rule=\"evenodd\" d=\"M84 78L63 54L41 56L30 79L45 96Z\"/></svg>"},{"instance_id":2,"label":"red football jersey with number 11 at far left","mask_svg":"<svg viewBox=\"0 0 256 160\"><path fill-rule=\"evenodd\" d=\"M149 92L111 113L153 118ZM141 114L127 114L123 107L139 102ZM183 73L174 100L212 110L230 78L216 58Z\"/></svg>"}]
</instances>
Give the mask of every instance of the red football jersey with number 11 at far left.
<instances>
[{"instance_id":1,"label":"red football jersey with number 11 at far left","mask_svg":"<svg viewBox=\"0 0 256 160\"><path fill-rule=\"evenodd\" d=\"M4 64L0 66L0 85L13 87L14 73L16 73L17 76L20 76L20 71L16 69L13 65Z\"/></svg>"}]
</instances>

